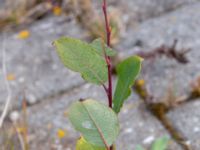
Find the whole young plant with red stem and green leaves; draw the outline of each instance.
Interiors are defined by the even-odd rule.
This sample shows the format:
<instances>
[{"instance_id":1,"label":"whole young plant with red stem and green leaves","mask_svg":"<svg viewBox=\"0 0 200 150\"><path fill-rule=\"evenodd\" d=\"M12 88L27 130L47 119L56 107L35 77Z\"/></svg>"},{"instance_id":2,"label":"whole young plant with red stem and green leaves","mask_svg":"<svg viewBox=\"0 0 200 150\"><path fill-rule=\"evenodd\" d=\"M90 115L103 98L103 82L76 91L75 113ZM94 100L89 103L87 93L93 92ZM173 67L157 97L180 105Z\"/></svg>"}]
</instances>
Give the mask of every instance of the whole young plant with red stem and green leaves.
<instances>
[{"instance_id":1,"label":"whole young plant with red stem and green leaves","mask_svg":"<svg viewBox=\"0 0 200 150\"><path fill-rule=\"evenodd\" d=\"M102 86L108 97L108 105L94 99L79 100L69 108L69 120L81 133L76 150L114 150L119 135L118 114L124 101L131 94L142 59L130 56L116 66L117 84L112 88L112 61L116 51L111 49L111 27L107 15L107 2L103 0L106 42L101 38L86 43L70 37L54 41L62 63L70 70L81 74L92 84ZM112 93L114 91L114 94Z\"/></svg>"}]
</instances>

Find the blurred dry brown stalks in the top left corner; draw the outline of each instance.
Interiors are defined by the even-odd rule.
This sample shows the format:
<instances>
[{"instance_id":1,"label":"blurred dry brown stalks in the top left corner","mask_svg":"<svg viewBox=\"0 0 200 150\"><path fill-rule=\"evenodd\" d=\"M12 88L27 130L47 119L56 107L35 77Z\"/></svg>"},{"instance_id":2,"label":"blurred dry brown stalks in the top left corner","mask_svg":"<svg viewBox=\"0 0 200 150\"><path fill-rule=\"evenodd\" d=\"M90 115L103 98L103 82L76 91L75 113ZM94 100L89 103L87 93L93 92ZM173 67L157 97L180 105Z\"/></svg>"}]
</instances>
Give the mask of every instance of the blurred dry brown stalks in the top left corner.
<instances>
[{"instance_id":1,"label":"blurred dry brown stalks in the top left corner","mask_svg":"<svg viewBox=\"0 0 200 150\"><path fill-rule=\"evenodd\" d=\"M5 8L0 10L0 29L30 24L47 14L51 8L48 1L7 0Z\"/></svg>"}]
</instances>

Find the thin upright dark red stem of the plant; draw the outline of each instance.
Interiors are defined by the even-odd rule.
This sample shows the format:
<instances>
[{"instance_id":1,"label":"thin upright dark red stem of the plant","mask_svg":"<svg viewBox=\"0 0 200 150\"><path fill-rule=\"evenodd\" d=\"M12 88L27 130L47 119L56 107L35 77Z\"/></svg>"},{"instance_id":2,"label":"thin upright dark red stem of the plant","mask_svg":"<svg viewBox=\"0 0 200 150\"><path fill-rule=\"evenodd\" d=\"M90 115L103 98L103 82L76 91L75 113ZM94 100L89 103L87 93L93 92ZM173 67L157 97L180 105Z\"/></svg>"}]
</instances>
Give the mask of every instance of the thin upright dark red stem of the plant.
<instances>
[{"instance_id":1,"label":"thin upright dark red stem of the plant","mask_svg":"<svg viewBox=\"0 0 200 150\"><path fill-rule=\"evenodd\" d=\"M111 29L109 26L108 15L107 15L107 1L103 0L102 5L104 18L105 18L105 26L106 26L106 37L107 37L107 46L110 47L110 36L111 36ZM112 71L111 71L111 59L109 56L105 55L105 60L108 67L108 89L106 90L108 96L108 105L112 108Z\"/></svg>"}]
</instances>

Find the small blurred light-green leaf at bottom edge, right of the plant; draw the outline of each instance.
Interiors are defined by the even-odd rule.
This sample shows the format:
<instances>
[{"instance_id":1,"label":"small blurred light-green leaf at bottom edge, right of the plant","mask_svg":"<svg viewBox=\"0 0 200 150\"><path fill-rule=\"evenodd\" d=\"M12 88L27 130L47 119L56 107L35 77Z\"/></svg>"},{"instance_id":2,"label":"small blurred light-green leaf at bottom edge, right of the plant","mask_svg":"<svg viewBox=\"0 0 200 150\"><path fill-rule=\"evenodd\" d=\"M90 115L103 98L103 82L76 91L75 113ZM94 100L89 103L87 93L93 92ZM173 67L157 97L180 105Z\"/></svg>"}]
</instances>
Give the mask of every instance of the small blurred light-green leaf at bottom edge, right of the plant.
<instances>
[{"instance_id":1,"label":"small blurred light-green leaf at bottom edge, right of the plant","mask_svg":"<svg viewBox=\"0 0 200 150\"><path fill-rule=\"evenodd\" d=\"M159 138L152 144L151 149L152 150L166 150L168 143L169 143L169 137L165 136L165 137Z\"/></svg>"}]
</instances>

